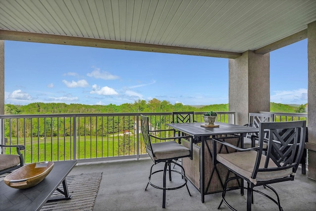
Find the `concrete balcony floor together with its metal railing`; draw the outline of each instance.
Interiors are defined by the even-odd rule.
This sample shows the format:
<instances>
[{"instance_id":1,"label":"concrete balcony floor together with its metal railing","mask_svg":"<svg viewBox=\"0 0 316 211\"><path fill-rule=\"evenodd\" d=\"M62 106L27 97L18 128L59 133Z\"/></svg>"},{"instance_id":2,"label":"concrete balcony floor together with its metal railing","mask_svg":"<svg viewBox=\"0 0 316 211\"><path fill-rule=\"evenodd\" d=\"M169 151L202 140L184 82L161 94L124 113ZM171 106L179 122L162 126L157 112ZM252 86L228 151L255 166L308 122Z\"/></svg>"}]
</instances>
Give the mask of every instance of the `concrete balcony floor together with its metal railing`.
<instances>
[{"instance_id":1,"label":"concrete balcony floor together with its metal railing","mask_svg":"<svg viewBox=\"0 0 316 211\"><path fill-rule=\"evenodd\" d=\"M218 122L235 123L235 112L217 113ZM77 159L79 165L71 171L72 175L102 171L95 211L163 210L162 191L153 187L144 191L153 162L143 149L139 115L0 115L1 140L26 145L26 163ZM151 125L155 128L166 128L165 124L172 121L171 113L145 115L151 117ZM201 115L195 113L195 120L200 122ZM307 120L307 115L275 113L275 121L293 120ZM2 149L2 152L14 153L8 149ZM316 181L307 177L308 172L301 174L300 168L294 181L273 186L279 193L284 210L314 210L316 207ZM162 181L162 176L158 178ZM185 188L167 191L168 210L217 210L220 193L206 195L205 202L201 203L198 190L190 182L188 185L192 197ZM229 195L237 210L245 209L245 196L236 191L231 191ZM223 205L222 210L229 209ZM277 207L265 197L255 194L254 210L277 210Z\"/></svg>"}]
</instances>

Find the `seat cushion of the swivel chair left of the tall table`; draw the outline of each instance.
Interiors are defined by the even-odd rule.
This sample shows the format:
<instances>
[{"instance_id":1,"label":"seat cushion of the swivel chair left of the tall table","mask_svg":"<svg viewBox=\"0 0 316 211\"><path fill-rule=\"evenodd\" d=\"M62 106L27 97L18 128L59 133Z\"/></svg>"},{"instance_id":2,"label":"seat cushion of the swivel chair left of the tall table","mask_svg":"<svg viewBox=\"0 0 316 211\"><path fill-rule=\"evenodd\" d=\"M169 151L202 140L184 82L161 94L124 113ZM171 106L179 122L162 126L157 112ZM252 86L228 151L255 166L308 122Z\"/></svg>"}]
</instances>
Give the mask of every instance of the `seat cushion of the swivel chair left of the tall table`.
<instances>
[{"instance_id":1,"label":"seat cushion of the swivel chair left of the tall table","mask_svg":"<svg viewBox=\"0 0 316 211\"><path fill-rule=\"evenodd\" d=\"M175 141L166 141L152 144L152 149L156 160L186 157L190 155L190 150Z\"/></svg>"}]
</instances>

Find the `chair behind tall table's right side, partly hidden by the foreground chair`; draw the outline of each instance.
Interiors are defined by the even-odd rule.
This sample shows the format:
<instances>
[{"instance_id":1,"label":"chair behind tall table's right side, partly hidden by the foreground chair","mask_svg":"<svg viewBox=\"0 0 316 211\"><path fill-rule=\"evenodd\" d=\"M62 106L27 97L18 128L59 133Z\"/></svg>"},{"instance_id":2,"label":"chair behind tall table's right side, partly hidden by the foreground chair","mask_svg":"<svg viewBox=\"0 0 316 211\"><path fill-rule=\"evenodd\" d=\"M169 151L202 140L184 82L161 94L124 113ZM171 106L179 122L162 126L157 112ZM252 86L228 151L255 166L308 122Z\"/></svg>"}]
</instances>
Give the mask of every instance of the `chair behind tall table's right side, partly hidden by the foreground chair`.
<instances>
[{"instance_id":1,"label":"chair behind tall table's right side, partly hidden by the foreground chair","mask_svg":"<svg viewBox=\"0 0 316 211\"><path fill-rule=\"evenodd\" d=\"M269 113L249 113L248 126L259 128L260 123L273 122L274 114ZM251 148L258 146L258 133L247 133L243 138L243 148ZM266 136L268 133L266 133ZM264 143L264 148L267 144Z\"/></svg>"}]
</instances>

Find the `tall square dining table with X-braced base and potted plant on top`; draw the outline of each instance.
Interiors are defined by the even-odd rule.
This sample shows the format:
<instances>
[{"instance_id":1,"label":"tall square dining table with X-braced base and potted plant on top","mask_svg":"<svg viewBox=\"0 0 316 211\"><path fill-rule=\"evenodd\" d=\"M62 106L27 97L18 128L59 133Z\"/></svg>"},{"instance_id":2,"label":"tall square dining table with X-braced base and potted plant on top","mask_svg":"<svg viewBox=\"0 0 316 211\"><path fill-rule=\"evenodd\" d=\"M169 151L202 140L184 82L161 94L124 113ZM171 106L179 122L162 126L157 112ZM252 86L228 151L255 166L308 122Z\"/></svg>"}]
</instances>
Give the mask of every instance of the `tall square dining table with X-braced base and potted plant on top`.
<instances>
[{"instance_id":1,"label":"tall square dining table with X-braced base and potted plant on top","mask_svg":"<svg viewBox=\"0 0 316 211\"><path fill-rule=\"evenodd\" d=\"M204 203L204 196L222 192L225 180L231 176L228 169L221 164L213 165L212 155L214 154L213 150L217 150L217 153L230 153L234 150L220 146L220 144L217 144L217 149L213 149L212 137L225 137L229 139L226 140L227 142L240 147L243 143L243 134L258 132L259 128L219 122L215 122L215 125L219 127L202 127L202 124L204 123L173 123L166 125L193 136L193 142L196 143L193 146L193 160L183 158L182 166L189 180L200 192L201 201ZM182 142L189 147L188 141L182 140ZM239 181L238 184L238 181L236 181L237 184L232 183L231 186L240 185L241 182Z\"/></svg>"}]
</instances>

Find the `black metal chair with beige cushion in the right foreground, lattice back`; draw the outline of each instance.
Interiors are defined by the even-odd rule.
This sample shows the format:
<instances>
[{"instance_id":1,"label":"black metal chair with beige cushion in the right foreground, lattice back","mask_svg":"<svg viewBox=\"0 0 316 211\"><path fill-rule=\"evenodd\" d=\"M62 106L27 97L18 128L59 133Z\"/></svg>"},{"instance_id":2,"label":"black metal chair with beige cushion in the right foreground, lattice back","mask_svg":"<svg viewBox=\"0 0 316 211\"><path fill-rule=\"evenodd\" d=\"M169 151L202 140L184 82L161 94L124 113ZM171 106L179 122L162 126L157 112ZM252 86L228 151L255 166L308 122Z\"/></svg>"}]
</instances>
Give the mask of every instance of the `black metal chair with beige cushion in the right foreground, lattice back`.
<instances>
[{"instance_id":1,"label":"black metal chair with beige cushion in the right foreground, lattice back","mask_svg":"<svg viewBox=\"0 0 316 211\"><path fill-rule=\"evenodd\" d=\"M235 210L225 199L226 191L242 188L247 189L247 211L251 211L253 192L266 196L276 203L279 211L283 210L280 206L278 194L270 184L294 180L304 152L306 121L260 123L259 128L259 146L255 148L242 149L219 138L213 138L215 149L216 143L220 143L237 150L237 152L229 154L216 155L216 152L214 152L214 164L221 163L237 175L226 180L222 201L218 209L224 202L229 208ZM270 130L268 138L265 138L266 130ZM266 155L262 153L264 141L268 142ZM229 181L240 178L247 182L247 187L227 188ZM276 194L276 199L255 190L254 187L257 186L265 186L271 189Z\"/></svg>"}]
</instances>

